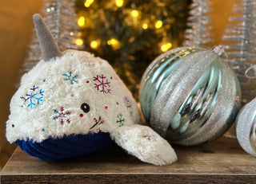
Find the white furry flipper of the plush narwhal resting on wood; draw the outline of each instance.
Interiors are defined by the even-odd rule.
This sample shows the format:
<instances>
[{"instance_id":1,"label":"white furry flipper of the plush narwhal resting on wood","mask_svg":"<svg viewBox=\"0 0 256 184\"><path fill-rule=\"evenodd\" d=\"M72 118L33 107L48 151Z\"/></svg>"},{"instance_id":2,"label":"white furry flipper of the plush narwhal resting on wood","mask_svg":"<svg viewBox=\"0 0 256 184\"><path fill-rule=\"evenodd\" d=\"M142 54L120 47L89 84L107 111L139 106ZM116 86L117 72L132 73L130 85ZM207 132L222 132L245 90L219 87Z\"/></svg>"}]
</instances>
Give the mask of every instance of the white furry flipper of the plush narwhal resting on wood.
<instances>
[{"instance_id":1,"label":"white furry flipper of the plush narwhal resting on wood","mask_svg":"<svg viewBox=\"0 0 256 184\"><path fill-rule=\"evenodd\" d=\"M142 125L118 127L110 135L118 146L143 162L162 166L177 160L177 155L170 144L150 127Z\"/></svg>"}]
</instances>

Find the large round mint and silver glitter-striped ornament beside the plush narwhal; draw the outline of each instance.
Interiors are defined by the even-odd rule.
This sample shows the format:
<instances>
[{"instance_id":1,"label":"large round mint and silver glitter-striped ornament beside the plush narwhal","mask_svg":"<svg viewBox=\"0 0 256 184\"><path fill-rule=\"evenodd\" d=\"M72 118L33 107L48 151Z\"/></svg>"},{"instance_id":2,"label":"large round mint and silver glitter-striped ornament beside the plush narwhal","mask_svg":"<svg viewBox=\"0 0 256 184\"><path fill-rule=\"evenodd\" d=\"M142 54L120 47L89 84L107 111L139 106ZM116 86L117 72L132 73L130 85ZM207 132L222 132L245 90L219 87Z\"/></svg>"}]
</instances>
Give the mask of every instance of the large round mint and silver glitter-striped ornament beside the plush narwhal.
<instances>
[{"instance_id":1,"label":"large round mint and silver glitter-striped ornament beside the plush narwhal","mask_svg":"<svg viewBox=\"0 0 256 184\"><path fill-rule=\"evenodd\" d=\"M222 53L218 47L172 49L146 69L142 113L170 142L190 146L213 141L234 123L240 86Z\"/></svg>"}]
</instances>

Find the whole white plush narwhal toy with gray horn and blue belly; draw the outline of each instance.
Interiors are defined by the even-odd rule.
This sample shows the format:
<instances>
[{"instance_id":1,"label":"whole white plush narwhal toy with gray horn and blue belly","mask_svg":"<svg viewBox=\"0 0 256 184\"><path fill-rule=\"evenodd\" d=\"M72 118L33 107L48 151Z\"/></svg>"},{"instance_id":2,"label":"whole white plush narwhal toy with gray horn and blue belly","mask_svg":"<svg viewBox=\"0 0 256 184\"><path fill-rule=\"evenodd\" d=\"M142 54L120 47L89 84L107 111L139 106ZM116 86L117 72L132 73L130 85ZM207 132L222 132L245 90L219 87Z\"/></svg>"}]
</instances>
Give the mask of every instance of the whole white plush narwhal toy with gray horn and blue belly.
<instances>
[{"instance_id":1,"label":"whole white plush narwhal toy with gray horn and blue belly","mask_svg":"<svg viewBox=\"0 0 256 184\"><path fill-rule=\"evenodd\" d=\"M39 14L34 25L43 60L22 76L10 102L10 143L46 161L85 155L112 140L144 162L177 159L166 140L137 124L135 100L106 61L77 50L62 53Z\"/></svg>"}]
</instances>

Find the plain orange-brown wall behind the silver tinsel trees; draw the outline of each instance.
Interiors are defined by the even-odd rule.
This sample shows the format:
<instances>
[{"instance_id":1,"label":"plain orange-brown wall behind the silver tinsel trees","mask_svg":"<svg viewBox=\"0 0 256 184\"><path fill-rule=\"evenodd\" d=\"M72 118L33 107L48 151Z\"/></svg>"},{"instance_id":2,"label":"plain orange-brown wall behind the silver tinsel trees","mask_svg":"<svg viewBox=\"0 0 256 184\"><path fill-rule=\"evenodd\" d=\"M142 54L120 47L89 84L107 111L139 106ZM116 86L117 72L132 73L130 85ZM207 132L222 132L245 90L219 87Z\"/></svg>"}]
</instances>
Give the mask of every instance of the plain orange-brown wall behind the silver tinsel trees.
<instances>
[{"instance_id":1,"label":"plain orange-brown wall behind the silver tinsel trees","mask_svg":"<svg viewBox=\"0 0 256 184\"><path fill-rule=\"evenodd\" d=\"M221 37L232 6L236 0L211 0L213 3L214 43ZM11 96L16 91L19 69L26 57L27 45L33 28L32 15L42 7L42 0L0 0L0 170L14 151L15 145L7 143L5 124L9 115Z\"/></svg>"}]
</instances>

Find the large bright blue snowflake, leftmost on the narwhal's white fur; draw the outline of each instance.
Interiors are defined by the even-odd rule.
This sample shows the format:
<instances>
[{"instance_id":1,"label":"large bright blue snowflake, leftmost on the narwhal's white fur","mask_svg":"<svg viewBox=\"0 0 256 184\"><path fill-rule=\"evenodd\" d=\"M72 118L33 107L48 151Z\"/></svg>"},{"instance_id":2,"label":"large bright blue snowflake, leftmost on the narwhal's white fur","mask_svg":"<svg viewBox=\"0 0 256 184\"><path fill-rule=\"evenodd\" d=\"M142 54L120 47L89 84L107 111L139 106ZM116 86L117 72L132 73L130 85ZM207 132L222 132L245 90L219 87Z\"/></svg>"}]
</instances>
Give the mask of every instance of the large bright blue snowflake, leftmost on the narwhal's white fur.
<instances>
[{"instance_id":1,"label":"large bright blue snowflake, leftmost on the narwhal's white fur","mask_svg":"<svg viewBox=\"0 0 256 184\"><path fill-rule=\"evenodd\" d=\"M36 87L30 88L30 93L26 93L26 96L21 96L21 99L24 101L24 104L27 105L28 108L33 108L36 104L40 104L43 100L42 88ZM23 106L22 106L23 107Z\"/></svg>"}]
</instances>

